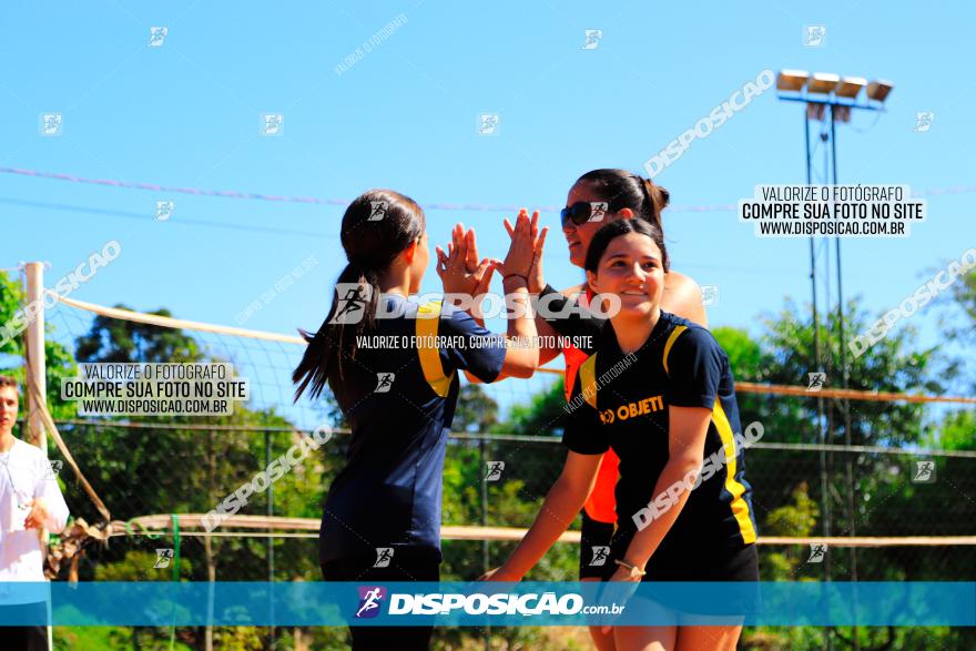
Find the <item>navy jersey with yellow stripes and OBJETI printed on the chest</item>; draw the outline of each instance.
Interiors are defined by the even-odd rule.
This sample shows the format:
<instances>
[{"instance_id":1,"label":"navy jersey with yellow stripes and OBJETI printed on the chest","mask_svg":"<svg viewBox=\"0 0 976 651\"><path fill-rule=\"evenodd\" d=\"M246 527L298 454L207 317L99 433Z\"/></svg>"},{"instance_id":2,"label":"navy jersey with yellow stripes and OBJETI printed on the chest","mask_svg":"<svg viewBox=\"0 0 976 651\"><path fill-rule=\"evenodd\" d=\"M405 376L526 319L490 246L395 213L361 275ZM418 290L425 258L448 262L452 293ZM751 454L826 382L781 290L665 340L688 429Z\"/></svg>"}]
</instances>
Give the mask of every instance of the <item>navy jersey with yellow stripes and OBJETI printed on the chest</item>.
<instances>
[{"instance_id":1,"label":"navy jersey with yellow stripes and OBJETI printed on the chest","mask_svg":"<svg viewBox=\"0 0 976 651\"><path fill-rule=\"evenodd\" d=\"M719 462L709 478L702 474L703 481L691 491L661 549L755 542L752 489L744 476L743 450L734 439L742 428L732 372L708 329L662 312L644 346L627 356L608 323L597 353L578 372L563 445L583 455L611 448L617 452L618 537L632 536L638 530L633 516L657 497L654 486L668 462L672 405L711 410L702 461L724 445L728 462Z\"/></svg>"}]
</instances>

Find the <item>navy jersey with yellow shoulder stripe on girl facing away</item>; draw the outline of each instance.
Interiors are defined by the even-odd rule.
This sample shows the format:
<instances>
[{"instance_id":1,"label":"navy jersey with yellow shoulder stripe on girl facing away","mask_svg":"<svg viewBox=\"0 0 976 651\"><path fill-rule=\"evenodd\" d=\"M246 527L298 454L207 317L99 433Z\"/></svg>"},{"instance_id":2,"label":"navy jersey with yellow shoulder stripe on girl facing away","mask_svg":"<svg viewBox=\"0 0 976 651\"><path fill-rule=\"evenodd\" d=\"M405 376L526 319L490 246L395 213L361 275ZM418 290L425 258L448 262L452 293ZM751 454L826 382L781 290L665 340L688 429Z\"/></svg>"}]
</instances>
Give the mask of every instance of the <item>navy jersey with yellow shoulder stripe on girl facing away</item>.
<instances>
[{"instance_id":1,"label":"navy jersey with yellow shoulder stripe on girl facing away","mask_svg":"<svg viewBox=\"0 0 976 651\"><path fill-rule=\"evenodd\" d=\"M376 558L378 547L439 551L444 455L460 369L490 383L506 340L468 314L401 296L331 378L352 439L322 520L319 559ZM401 311L401 312L397 312Z\"/></svg>"}]
</instances>

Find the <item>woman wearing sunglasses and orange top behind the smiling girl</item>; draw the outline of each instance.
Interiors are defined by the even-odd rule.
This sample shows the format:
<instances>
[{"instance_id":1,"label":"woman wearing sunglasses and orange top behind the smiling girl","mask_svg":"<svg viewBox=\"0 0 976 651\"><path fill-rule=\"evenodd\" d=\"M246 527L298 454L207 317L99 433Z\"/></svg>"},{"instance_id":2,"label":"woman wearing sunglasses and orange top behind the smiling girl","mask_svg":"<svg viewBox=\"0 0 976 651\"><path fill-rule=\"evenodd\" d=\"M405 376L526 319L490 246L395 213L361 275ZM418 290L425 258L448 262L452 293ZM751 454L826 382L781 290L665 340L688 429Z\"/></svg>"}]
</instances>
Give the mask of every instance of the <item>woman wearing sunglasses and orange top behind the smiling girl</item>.
<instances>
[{"instance_id":1,"label":"woman wearing sunglasses and orange top behind the smiling girl","mask_svg":"<svg viewBox=\"0 0 976 651\"><path fill-rule=\"evenodd\" d=\"M597 231L608 223L637 218L661 228L661 211L668 205L668 191L654 185L650 179L642 179L624 170L604 169L587 172L570 189L567 207L561 213L562 233L569 245L570 262L582 268L590 242ZM549 304L551 312L557 314L565 313L566 303L569 301L577 301L587 306L593 297L592 291L586 286L586 283L563 289L562 296L557 295L560 293L548 286L542 277L541 255L536 256L536 264L529 276L529 292L539 294L543 305ZM662 307L708 327L701 289L685 275L678 272L668 274L664 281ZM596 343L601 324L599 319L578 316L551 318L537 315L536 317L540 337L559 335L563 338L573 338L583 345L583 348L578 348L568 343L563 348L542 347L539 350L539 364L546 364L562 353L566 362L567 400L573 389L577 369L593 353L593 349L587 348L584 343ZM603 570L603 566L600 564L602 552L609 547L617 526L613 487L617 485L618 465L617 455L613 450L608 450L603 455L592 494L582 510L579 563L582 581L598 581ZM602 632L599 627L591 627L590 634L600 651L613 650L612 634Z\"/></svg>"}]
</instances>

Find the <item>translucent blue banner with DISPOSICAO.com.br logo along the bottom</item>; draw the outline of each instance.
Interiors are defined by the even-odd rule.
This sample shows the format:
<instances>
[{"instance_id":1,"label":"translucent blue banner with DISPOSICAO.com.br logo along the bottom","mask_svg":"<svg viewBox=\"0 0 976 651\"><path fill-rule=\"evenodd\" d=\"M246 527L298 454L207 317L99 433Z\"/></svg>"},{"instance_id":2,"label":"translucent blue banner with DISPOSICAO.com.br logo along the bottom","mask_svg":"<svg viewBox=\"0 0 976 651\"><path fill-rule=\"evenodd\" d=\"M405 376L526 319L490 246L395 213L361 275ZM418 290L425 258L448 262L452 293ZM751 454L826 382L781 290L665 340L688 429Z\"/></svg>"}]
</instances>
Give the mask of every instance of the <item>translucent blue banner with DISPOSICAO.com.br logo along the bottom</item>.
<instances>
[{"instance_id":1,"label":"translucent blue banner with DISPOSICAO.com.br logo along the bottom","mask_svg":"<svg viewBox=\"0 0 976 651\"><path fill-rule=\"evenodd\" d=\"M973 627L976 582L0 583L0 625Z\"/></svg>"}]
</instances>

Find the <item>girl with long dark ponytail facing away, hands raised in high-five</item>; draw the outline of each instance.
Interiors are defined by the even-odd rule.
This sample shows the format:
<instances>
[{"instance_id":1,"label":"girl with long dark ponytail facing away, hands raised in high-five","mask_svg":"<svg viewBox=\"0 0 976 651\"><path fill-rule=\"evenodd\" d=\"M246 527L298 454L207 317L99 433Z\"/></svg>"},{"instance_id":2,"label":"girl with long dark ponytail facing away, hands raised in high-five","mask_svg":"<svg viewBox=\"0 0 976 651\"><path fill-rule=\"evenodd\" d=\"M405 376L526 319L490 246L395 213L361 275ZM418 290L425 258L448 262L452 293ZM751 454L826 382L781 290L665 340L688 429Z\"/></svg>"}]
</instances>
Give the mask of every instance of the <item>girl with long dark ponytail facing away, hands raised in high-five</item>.
<instances>
[{"instance_id":1,"label":"girl with long dark ponytail facing away, hands raised in high-five","mask_svg":"<svg viewBox=\"0 0 976 651\"><path fill-rule=\"evenodd\" d=\"M474 273L465 268L474 234L455 227L450 255L438 266L446 294L482 294L497 268L506 294L528 304L537 222L523 212L509 226L515 236L505 262L486 258ZM531 377L538 349L509 347L504 336L449 306L408 302L430 257L424 212L411 199L390 190L360 195L343 216L342 244L348 264L318 332L303 333L308 347L292 377L296 400L306 389L317 397L328 384L352 428L346 464L324 506L322 572L327 581L436 582L457 372L487 383ZM509 319L508 334L535 339L531 313L522 314ZM440 346L444 340L453 346ZM375 599L360 609L369 607ZM427 649L431 631L352 627L353 649Z\"/></svg>"}]
</instances>

